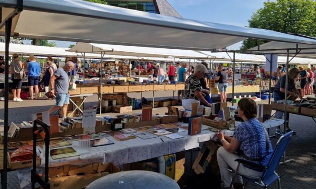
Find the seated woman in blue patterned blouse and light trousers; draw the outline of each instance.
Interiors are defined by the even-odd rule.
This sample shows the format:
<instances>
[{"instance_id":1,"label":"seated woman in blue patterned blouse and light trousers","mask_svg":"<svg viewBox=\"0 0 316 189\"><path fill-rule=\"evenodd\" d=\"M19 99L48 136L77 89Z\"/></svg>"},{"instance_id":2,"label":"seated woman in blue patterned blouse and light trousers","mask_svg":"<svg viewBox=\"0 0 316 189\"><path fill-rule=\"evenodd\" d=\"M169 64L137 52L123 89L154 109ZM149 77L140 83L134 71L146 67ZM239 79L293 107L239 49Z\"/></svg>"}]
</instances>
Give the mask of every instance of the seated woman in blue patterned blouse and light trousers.
<instances>
[{"instance_id":1,"label":"seated woman in blue patterned blouse and light trousers","mask_svg":"<svg viewBox=\"0 0 316 189\"><path fill-rule=\"evenodd\" d=\"M235 159L244 159L266 166L272 155L272 145L268 133L256 119L257 104L254 100L243 98L238 102L238 114L243 119L235 129L233 137L217 134L222 143L217 151L217 161L225 188L229 188L232 181L231 172L227 168L236 170L238 162ZM240 155L235 152L238 151ZM262 171L256 167L240 164L238 172L246 176L262 176ZM234 189L243 188L242 178L236 176ZM236 181L236 180L235 180Z\"/></svg>"}]
</instances>

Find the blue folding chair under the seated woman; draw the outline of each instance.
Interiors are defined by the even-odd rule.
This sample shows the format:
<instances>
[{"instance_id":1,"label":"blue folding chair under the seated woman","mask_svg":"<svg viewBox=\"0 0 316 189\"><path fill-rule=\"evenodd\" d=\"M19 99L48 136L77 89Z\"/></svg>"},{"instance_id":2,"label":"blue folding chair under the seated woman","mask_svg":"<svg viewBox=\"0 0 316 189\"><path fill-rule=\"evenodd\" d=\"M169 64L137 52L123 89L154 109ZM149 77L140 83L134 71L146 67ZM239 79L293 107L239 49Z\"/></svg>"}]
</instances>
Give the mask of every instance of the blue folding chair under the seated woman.
<instances>
[{"instance_id":1,"label":"blue folding chair under the seated woman","mask_svg":"<svg viewBox=\"0 0 316 189\"><path fill-rule=\"evenodd\" d=\"M254 183L256 183L264 188L268 188L268 186L272 182L274 182L275 180L278 180L278 187L279 187L279 189L281 189L280 175L277 174L275 172L275 170L278 168L280 159L282 158L283 153L285 152L285 149L290 141L292 134L293 134L293 131L288 132L279 138L277 145L273 150L271 159L270 159L267 166L262 166L262 165L259 165L256 163L252 163L252 162L244 160L244 159L236 159L235 161L238 162L238 166L237 166L235 171L230 170L231 172L234 172L234 175L233 175L233 179L231 181L229 188L232 187L235 176L239 175L239 176L242 176L242 178L244 178L246 180L244 187L246 187L247 182L250 181L250 182L254 182ZM250 177L250 176L245 176L245 175L239 174L238 168L239 168L240 163L246 164L246 165L251 165L251 166L254 166L254 167L257 167L259 169L264 170L262 173L262 176L261 177Z\"/></svg>"}]
</instances>

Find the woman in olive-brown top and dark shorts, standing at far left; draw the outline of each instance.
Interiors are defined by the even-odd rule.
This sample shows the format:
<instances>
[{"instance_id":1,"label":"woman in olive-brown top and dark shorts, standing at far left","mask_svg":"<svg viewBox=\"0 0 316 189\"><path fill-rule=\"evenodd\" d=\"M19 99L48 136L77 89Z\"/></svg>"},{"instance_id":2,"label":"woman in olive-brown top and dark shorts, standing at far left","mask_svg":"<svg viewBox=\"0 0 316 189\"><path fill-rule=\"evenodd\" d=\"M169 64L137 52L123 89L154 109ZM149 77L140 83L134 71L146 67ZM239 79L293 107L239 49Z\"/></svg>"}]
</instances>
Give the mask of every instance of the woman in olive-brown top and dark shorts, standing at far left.
<instances>
[{"instance_id":1,"label":"woman in olive-brown top and dark shorts, standing at far left","mask_svg":"<svg viewBox=\"0 0 316 189\"><path fill-rule=\"evenodd\" d=\"M11 72L12 72L11 80L13 81L12 83L13 101L21 102L23 101L20 98L21 87L22 87L23 77L25 76L24 70L23 70L23 63L20 61L18 54L13 54L12 58L13 58L13 61L11 62Z\"/></svg>"}]
</instances>

